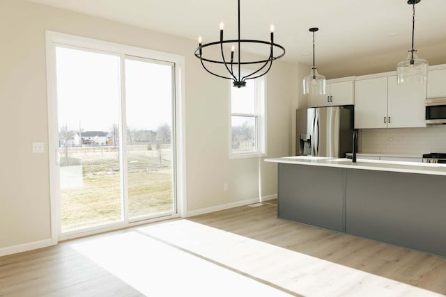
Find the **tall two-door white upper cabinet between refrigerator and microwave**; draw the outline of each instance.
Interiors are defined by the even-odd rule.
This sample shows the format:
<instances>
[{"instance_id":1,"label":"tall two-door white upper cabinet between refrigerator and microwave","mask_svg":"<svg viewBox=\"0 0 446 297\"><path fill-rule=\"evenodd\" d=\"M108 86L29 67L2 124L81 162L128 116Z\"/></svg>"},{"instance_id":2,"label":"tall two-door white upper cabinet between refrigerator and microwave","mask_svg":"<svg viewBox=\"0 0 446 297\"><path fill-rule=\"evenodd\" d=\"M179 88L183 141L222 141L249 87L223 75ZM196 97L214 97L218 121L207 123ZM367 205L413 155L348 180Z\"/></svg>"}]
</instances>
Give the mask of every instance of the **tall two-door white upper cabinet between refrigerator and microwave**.
<instances>
[{"instance_id":1,"label":"tall two-door white upper cabinet between refrigerator and microwave","mask_svg":"<svg viewBox=\"0 0 446 297\"><path fill-rule=\"evenodd\" d=\"M355 81L355 129L426 127L426 84L387 75Z\"/></svg>"}]
</instances>

